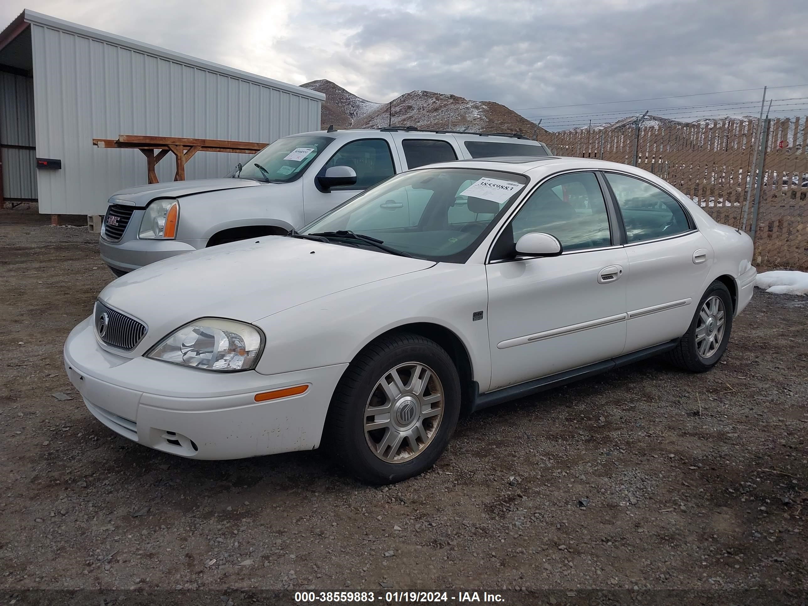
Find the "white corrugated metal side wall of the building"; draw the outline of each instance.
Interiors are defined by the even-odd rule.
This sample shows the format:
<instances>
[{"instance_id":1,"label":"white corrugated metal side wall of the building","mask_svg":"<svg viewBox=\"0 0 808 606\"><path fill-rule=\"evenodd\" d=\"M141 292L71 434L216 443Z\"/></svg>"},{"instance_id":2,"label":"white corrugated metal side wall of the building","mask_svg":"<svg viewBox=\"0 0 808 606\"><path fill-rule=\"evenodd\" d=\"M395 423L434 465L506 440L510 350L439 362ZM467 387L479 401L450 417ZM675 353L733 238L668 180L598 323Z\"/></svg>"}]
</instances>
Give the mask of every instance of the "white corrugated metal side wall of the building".
<instances>
[{"instance_id":1,"label":"white corrugated metal side wall of the building","mask_svg":"<svg viewBox=\"0 0 808 606\"><path fill-rule=\"evenodd\" d=\"M40 213L103 214L112 193L146 182L141 152L98 149L92 145L94 137L144 134L271 143L319 129L319 101L140 48L36 23L31 27L36 96L30 110L36 118L32 138L37 155L62 161L62 170L35 170ZM196 154L186 167L187 179L226 175L247 158ZM173 179L173 154L157 169L161 181ZM17 180L24 184L22 175ZM32 179L29 183L34 187Z\"/></svg>"}]
</instances>

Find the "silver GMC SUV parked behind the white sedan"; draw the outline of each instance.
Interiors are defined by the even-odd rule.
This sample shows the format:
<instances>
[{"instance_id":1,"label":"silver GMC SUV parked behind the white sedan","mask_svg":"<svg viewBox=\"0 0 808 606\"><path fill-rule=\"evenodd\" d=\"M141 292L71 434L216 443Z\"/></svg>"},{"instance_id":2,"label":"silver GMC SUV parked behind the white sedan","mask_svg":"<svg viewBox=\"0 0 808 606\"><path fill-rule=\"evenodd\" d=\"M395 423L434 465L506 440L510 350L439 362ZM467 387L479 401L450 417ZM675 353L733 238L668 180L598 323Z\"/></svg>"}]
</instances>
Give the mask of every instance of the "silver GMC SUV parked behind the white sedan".
<instances>
[{"instance_id":1,"label":"silver GMC SUV parked behind the white sedan","mask_svg":"<svg viewBox=\"0 0 808 606\"><path fill-rule=\"evenodd\" d=\"M116 276L184 252L288 234L397 173L448 160L548 156L520 135L333 130L278 139L229 177L131 187L113 194L101 229L101 259ZM406 212L388 200L381 212Z\"/></svg>"}]
</instances>

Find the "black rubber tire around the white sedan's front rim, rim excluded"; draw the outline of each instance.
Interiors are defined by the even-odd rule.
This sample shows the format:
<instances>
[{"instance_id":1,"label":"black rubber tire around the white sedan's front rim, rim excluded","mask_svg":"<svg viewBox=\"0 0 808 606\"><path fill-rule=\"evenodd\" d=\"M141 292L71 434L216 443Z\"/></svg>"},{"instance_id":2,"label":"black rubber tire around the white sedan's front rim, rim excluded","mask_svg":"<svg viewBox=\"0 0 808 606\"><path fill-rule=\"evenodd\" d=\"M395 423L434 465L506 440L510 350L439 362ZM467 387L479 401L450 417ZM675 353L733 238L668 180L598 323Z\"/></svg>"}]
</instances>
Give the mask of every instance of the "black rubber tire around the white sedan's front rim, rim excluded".
<instances>
[{"instance_id":1,"label":"black rubber tire around the white sedan's front rim, rim excluded","mask_svg":"<svg viewBox=\"0 0 808 606\"><path fill-rule=\"evenodd\" d=\"M365 406L390 369L410 362L423 364L438 377L443 391L443 415L427 445L412 458L397 463L383 461L372 451L365 434L364 423L368 419ZM460 377L446 351L420 335L389 335L370 343L346 369L331 398L322 441L326 452L333 452L361 481L377 485L401 482L435 464L452 437L460 410ZM427 420L423 423L426 425Z\"/></svg>"}]
</instances>

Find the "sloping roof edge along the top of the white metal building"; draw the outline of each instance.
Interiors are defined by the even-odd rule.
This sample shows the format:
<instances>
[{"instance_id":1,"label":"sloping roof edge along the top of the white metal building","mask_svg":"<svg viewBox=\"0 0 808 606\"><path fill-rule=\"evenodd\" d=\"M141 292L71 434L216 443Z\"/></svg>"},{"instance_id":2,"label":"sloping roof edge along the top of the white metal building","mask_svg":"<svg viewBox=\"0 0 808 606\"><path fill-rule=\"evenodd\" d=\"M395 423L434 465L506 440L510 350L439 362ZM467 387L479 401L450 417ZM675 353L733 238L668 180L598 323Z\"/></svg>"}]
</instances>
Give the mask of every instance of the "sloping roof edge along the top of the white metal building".
<instances>
[{"instance_id":1,"label":"sloping roof edge along the top of the white metal building","mask_svg":"<svg viewBox=\"0 0 808 606\"><path fill-rule=\"evenodd\" d=\"M37 13L36 11L31 11L29 9L25 9L14 21L12 21L2 32L0 32L0 48L11 42L11 40L13 40L20 33L19 26L23 22L33 23L43 27L51 27L64 32L70 32L77 36L91 38L93 40L102 40L103 42L109 42L110 44L131 48L133 50L140 51L141 53L154 55L155 57L162 57L170 61L177 61L178 63L184 63L200 69L206 69L217 74L224 74L227 76L232 76L233 78L246 80L248 82L255 82L257 84L271 86L272 88L276 88L278 90L285 90L293 93L294 95L305 97L306 99L314 99L317 101L324 101L326 99L326 95L323 95L316 90L309 90L307 88L302 88L301 86L294 86L293 84L280 82L280 80L273 80L272 78L265 78L257 74L250 74L249 72L242 71L241 69L227 67L226 65L213 63L213 61L204 61L204 59L191 57L190 55L185 55L183 53L176 53L175 51L170 51L167 48L146 44L145 42L139 42L137 40L132 40L131 38L125 38L124 36L116 36L115 34L103 32L93 27L86 27L79 25L78 23L71 23L70 21L57 19L56 17L51 17L49 15L43 15L42 13ZM11 38L11 40L9 38Z\"/></svg>"}]
</instances>

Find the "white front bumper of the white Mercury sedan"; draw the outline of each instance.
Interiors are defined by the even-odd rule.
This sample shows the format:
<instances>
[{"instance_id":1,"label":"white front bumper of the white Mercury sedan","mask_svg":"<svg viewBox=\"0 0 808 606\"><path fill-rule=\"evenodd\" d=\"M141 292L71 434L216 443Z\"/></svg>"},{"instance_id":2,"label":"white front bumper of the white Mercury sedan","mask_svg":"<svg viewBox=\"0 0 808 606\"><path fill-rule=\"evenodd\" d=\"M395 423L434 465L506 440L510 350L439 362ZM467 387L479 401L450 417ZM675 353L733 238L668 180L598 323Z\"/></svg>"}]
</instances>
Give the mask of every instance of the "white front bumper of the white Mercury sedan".
<instances>
[{"instance_id":1,"label":"white front bumper of the white Mercury sedan","mask_svg":"<svg viewBox=\"0 0 808 606\"><path fill-rule=\"evenodd\" d=\"M317 448L347 364L278 375L183 368L101 347L92 318L70 333L65 370L87 409L120 436L196 459L238 459ZM269 402L255 394L308 385Z\"/></svg>"}]
</instances>

